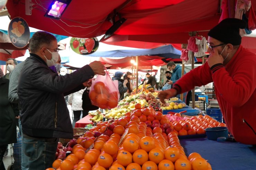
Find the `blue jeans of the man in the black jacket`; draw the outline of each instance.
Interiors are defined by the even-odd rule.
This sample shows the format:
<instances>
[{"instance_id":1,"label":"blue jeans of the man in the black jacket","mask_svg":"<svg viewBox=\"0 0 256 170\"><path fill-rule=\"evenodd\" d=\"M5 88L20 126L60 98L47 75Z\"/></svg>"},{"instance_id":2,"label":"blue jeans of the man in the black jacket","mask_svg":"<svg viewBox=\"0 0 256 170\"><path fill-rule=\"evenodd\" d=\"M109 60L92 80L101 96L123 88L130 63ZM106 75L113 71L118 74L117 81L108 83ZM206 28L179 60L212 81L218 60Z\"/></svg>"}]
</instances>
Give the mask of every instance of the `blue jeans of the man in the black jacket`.
<instances>
[{"instance_id":1,"label":"blue jeans of the man in the black jacket","mask_svg":"<svg viewBox=\"0 0 256 170\"><path fill-rule=\"evenodd\" d=\"M51 168L55 160L57 145L57 138L38 139L23 134L22 155L25 155L25 159L28 159L28 169L45 170ZM22 170L24 170L23 167Z\"/></svg>"}]
</instances>

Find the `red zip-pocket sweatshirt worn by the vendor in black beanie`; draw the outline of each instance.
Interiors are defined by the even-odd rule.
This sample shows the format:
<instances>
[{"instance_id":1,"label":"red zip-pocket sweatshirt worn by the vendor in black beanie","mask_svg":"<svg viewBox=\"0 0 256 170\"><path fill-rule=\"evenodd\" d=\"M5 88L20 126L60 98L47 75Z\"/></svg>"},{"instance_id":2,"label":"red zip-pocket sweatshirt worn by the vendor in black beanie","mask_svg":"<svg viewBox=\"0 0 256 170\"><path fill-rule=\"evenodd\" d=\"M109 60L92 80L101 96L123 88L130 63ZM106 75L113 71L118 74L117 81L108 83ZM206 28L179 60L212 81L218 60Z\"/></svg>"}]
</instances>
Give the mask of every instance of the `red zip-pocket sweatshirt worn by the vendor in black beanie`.
<instances>
[{"instance_id":1,"label":"red zip-pocket sweatshirt worn by the vendor in black beanie","mask_svg":"<svg viewBox=\"0 0 256 170\"><path fill-rule=\"evenodd\" d=\"M174 84L178 93L214 82L216 97L236 141L256 144L256 54L240 46L226 66L206 62Z\"/></svg>"}]
</instances>

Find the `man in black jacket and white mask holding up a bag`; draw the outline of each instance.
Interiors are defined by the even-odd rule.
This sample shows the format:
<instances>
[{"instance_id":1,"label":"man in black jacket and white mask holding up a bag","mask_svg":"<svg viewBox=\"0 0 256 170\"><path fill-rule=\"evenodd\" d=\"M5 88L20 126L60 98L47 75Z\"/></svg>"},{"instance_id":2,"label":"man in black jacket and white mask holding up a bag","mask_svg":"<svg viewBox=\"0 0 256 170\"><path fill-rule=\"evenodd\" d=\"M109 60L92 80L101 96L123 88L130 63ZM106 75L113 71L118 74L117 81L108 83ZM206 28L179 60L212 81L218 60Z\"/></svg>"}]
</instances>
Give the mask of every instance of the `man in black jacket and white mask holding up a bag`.
<instances>
[{"instance_id":1,"label":"man in black jacket and white mask holding up a bag","mask_svg":"<svg viewBox=\"0 0 256 170\"><path fill-rule=\"evenodd\" d=\"M81 89L95 74L104 75L104 65L94 61L65 76L48 67L58 60L56 38L45 31L33 34L30 57L25 60L18 83L21 106L22 152L29 156L29 169L52 167L58 138L73 138L73 128L64 96Z\"/></svg>"}]
</instances>

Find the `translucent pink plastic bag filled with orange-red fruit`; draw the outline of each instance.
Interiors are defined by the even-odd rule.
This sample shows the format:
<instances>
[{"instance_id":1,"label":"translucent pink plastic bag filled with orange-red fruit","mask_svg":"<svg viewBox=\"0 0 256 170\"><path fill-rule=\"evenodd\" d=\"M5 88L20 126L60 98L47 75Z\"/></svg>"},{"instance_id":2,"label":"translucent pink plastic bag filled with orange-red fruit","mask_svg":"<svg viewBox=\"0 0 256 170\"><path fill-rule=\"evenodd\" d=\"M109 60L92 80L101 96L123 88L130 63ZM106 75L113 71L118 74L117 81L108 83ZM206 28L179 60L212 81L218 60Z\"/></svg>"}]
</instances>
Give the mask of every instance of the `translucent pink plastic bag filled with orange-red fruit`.
<instances>
[{"instance_id":1,"label":"translucent pink plastic bag filled with orange-red fruit","mask_svg":"<svg viewBox=\"0 0 256 170\"><path fill-rule=\"evenodd\" d=\"M118 81L112 81L108 71L105 76L98 75L97 78L92 81L89 97L91 103L101 109L117 107L120 98Z\"/></svg>"}]
</instances>

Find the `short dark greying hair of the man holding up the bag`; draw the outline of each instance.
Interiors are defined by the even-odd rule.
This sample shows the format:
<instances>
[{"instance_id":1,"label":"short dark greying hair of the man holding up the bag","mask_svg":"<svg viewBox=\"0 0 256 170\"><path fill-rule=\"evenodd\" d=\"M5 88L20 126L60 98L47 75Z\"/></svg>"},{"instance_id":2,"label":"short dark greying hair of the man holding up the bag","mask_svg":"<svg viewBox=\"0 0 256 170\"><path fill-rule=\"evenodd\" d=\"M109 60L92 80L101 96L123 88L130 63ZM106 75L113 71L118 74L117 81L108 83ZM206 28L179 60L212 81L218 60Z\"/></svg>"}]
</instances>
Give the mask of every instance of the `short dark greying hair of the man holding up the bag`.
<instances>
[{"instance_id":1,"label":"short dark greying hair of the man holding up the bag","mask_svg":"<svg viewBox=\"0 0 256 170\"><path fill-rule=\"evenodd\" d=\"M37 52L42 48L43 45L51 44L52 41L56 40L53 34L45 31L37 31L33 34L32 38L29 40L29 48L32 53Z\"/></svg>"}]
</instances>

